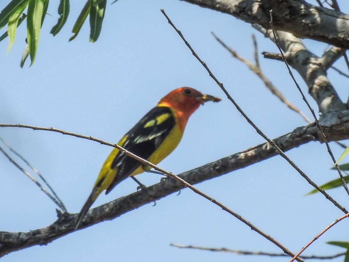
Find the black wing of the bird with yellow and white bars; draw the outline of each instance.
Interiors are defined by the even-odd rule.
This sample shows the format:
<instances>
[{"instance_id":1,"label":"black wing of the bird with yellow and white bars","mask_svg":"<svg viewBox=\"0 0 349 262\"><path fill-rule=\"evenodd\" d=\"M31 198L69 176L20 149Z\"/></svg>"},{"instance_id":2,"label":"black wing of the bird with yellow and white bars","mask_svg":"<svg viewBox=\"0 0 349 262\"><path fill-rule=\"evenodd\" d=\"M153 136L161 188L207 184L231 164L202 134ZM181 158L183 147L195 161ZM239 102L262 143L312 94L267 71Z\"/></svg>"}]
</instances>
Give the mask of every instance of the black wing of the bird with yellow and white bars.
<instances>
[{"instance_id":1,"label":"black wing of the bird with yellow and white bars","mask_svg":"<svg viewBox=\"0 0 349 262\"><path fill-rule=\"evenodd\" d=\"M148 159L175 124L175 118L169 107L154 107L126 133L126 141L121 146L141 158ZM110 166L111 169L118 167L118 170L105 194L108 194L141 165L142 163L138 160L119 151Z\"/></svg>"}]
</instances>

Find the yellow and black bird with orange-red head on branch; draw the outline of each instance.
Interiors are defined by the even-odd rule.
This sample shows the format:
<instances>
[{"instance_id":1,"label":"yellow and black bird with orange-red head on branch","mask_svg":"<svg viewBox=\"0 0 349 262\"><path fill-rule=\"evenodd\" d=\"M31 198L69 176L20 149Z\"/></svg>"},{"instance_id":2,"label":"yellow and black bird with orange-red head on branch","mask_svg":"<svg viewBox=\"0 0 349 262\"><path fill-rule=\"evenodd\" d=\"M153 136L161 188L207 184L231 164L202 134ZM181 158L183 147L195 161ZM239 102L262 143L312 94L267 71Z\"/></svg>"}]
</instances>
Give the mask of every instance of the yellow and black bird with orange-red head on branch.
<instances>
[{"instance_id":1,"label":"yellow and black bird with orange-red head on branch","mask_svg":"<svg viewBox=\"0 0 349 262\"><path fill-rule=\"evenodd\" d=\"M191 114L207 101L219 102L221 99L202 94L194 88L177 88L165 95L121 138L118 145L157 165L176 148ZM149 166L114 148L105 160L92 192L80 211L75 230L103 190L108 194L128 176L148 170Z\"/></svg>"}]
</instances>

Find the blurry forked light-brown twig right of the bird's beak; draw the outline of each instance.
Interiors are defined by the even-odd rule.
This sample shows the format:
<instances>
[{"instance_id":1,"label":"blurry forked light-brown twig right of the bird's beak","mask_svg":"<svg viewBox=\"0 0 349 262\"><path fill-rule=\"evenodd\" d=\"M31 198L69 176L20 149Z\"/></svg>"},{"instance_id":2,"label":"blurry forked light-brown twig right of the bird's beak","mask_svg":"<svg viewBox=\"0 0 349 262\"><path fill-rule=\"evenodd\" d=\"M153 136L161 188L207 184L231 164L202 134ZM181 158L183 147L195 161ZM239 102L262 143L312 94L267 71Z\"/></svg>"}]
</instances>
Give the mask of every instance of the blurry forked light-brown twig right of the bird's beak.
<instances>
[{"instance_id":1,"label":"blurry forked light-brown twig right of the bird's beak","mask_svg":"<svg viewBox=\"0 0 349 262\"><path fill-rule=\"evenodd\" d=\"M211 33L213 34L213 36L216 38L216 40L223 45L223 47L225 49L227 49L231 55L233 57L235 57L236 59L242 61L248 68L250 68L250 70L255 73L265 84L265 86L275 95L277 96L283 103L285 103L287 105L288 108L290 108L291 110L297 112L300 116L302 116L306 122L308 123L312 123L312 121L310 121L309 118L306 117L306 115L300 111L294 104L292 104L286 97L283 96L283 94L280 92L279 89L277 89L272 82L269 81L269 79L265 76L265 74L263 74L259 64L252 64L252 62L242 56L240 56L235 50L233 50L232 48L230 48L229 46L227 46L220 38L218 38L218 36L216 36L213 32ZM255 48L256 48L257 44L255 43ZM255 49L256 50L256 49ZM258 61L258 58L256 59L256 61Z\"/></svg>"}]
</instances>

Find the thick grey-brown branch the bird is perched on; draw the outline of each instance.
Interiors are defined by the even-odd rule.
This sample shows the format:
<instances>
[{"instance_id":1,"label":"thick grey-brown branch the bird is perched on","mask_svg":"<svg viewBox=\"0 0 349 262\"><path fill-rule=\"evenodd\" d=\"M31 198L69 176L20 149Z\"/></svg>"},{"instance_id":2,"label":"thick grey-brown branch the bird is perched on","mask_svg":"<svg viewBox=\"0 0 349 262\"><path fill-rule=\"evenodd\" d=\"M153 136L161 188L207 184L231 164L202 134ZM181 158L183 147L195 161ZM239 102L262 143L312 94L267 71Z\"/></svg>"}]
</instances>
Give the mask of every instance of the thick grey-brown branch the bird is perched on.
<instances>
[{"instance_id":1,"label":"thick grey-brown branch the bird is perched on","mask_svg":"<svg viewBox=\"0 0 349 262\"><path fill-rule=\"evenodd\" d=\"M326 121L321 121L322 129L329 141L349 138L349 111L343 111L337 115L329 114L324 116L323 119ZM310 141L319 140L320 137L318 128L314 124L310 124L276 138L274 142L283 151L288 151ZM202 167L189 170L179 176L190 184L196 184L250 166L274 155L277 155L276 150L269 143L263 143ZM182 188L184 188L184 185L180 182L166 179L138 192L91 209L83 220L82 227L114 219ZM0 232L0 256L34 245L46 245L74 231L77 214L58 213L58 217L57 221L45 228L18 233Z\"/></svg>"}]
</instances>

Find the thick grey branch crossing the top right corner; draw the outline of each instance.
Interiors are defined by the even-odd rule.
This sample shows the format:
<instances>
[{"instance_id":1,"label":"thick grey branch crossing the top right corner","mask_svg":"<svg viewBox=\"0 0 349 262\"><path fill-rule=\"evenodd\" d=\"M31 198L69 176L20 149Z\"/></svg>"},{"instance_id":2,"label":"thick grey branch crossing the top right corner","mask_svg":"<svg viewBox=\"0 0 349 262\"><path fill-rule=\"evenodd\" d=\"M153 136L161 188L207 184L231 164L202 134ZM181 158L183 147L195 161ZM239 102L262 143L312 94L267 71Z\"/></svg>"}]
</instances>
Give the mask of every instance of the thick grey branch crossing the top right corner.
<instances>
[{"instance_id":1,"label":"thick grey branch crossing the top right corner","mask_svg":"<svg viewBox=\"0 0 349 262\"><path fill-rule=\"evenodd\" d=\"M349 48L349 15L310 5L302 0L184 0L201 7L227 13L251 24L270 29L273 9L276 30L299 38L311 38Z\"/></svg>"}]
</instances>

